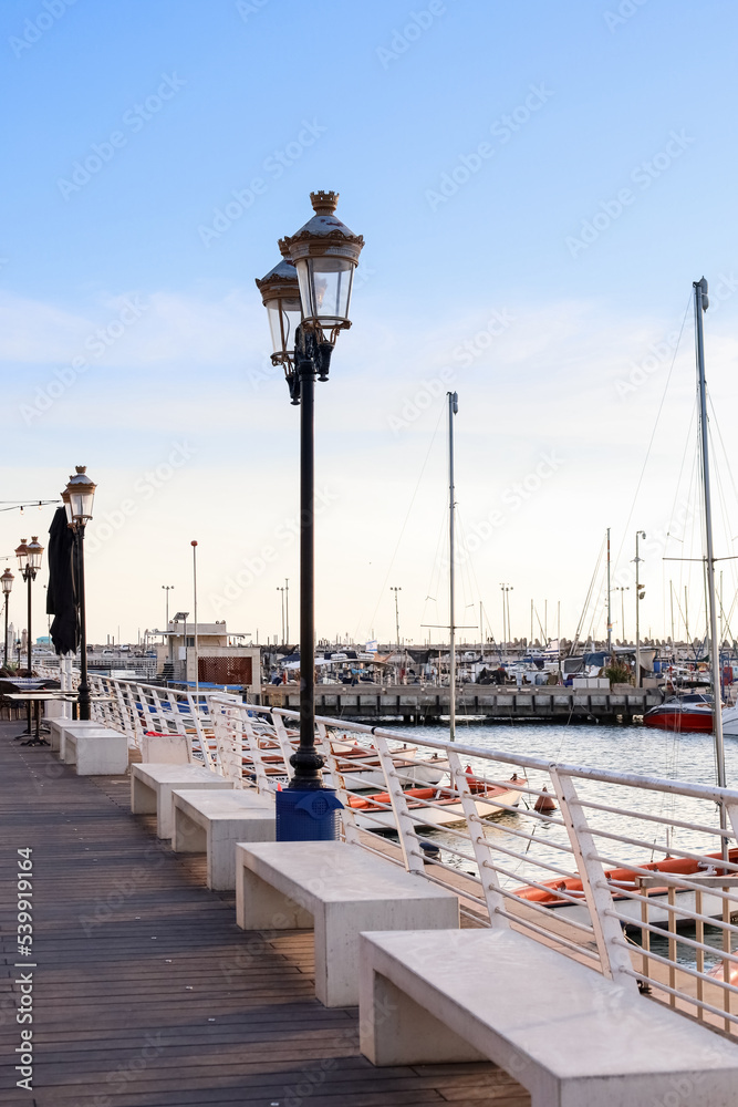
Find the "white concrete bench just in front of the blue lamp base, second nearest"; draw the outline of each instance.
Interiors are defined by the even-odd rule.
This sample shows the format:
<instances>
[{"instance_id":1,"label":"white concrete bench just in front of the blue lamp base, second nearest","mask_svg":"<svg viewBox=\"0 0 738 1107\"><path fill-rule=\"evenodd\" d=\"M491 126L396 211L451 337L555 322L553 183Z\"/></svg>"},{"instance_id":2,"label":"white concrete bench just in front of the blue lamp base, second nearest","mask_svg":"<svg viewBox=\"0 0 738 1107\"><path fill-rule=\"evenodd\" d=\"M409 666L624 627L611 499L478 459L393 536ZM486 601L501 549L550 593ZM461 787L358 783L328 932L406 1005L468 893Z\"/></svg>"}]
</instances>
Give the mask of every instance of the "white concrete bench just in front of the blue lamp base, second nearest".
<instances>
[{"instance_id":1,"label":"white concrete bench just in front of the blue lamp base, second nearest","mask_svg":"<svg viewBox=\"0 0 738 1107\"><path fill-rule=\"evenodd\" d=\"M459 924L457 897L392 861L341 841L236 847L236 921L243 930L315 931L315 995L358 1002L362 930Z\"/></svg>"}]
</instances>

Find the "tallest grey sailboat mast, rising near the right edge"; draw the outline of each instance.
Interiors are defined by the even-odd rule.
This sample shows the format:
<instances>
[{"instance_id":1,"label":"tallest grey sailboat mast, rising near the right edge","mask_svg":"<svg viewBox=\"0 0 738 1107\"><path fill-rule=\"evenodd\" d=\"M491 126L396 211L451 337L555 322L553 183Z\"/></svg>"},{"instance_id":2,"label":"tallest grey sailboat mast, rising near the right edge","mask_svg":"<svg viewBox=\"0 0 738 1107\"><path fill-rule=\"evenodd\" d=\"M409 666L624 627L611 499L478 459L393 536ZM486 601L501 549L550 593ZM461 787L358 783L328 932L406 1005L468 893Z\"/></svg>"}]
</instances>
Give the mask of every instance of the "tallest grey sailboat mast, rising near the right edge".
<instances>
[{"instance_id":1,"label":"tallest grey sailboat mast, rising near the right edge","mask_svg":"<svg viewBox=\"0 0 738 1107\"><path fill-rule=\"evenodd\" d=\"M709 612L709 652L710 671L713 674L713 718L715 728L715 761L717 764L717 784L726 787L725 745L723 741L723 708L720 696L720 650L717 640L717 614L715 610L715 550L713 546L713 504L710 499L710 467L707 435L707 389L705 385L705 340L703 334L703 313L707 311L707 281L694 282L695 289L695 325L697 340L697 384L699 391L699 435L703 465L703 492L705 496L705 552L707 558L707 608ZM725 810L720 808L721 818ZM725 848L726 842L723 840Z\"/></svg>"}]
</instances>

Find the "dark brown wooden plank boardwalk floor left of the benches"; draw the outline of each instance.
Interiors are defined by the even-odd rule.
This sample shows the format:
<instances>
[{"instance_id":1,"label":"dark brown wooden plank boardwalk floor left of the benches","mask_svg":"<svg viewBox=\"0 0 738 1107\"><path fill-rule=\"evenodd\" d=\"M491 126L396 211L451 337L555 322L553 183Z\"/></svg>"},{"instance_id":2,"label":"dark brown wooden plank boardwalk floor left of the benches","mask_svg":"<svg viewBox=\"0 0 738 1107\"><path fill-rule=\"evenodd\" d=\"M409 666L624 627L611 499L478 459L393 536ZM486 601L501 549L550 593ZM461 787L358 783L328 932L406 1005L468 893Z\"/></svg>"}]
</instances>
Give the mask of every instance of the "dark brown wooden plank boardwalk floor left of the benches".
<instances>
[{"instance_id":1,"label":"dark brown wooden plank boardwalk floor left of the benches","mask_svg":"<svg viewBox=\"0 0 738 1107\"><path fill-rule=\"evenodd\" d=\"M245 933L204 859L0 724L0 1103L8 1107L527 1107L493 1065L374 1068L355 1007L313 994L312 934ZM33 1090L15 1087L17 876L33 850ZM493 1002L490 997L490 1002Z\"/></svg>"}]
</instances>

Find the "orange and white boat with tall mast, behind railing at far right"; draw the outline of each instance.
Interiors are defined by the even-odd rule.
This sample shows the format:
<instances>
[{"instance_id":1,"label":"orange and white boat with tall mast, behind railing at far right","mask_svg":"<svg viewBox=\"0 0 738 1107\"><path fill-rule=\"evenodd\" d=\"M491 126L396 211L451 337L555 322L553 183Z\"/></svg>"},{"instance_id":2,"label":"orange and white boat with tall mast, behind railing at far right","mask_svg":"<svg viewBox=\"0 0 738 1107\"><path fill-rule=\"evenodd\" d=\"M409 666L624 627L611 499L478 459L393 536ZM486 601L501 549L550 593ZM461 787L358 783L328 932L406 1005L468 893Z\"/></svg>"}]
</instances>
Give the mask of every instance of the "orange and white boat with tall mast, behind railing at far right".
<instances>
[{"instance_id":1,"label":"orange and white boat with tall mast, behind railing at far right","mask_svg":"<svg viewBox=\"0 0 738 1107\"><path fill-rule=\"evenodd\" d=\"M708 425L707 425L707 387L705 383L705 342L703 333L703 315L707 311L709 306L709 300L707 297L707 281L703 277L698 281L694 281L693 288L695 290L695 330L696 330L696 354L697 354L697 387L699 395L699 430L700 430L700 459L701 459L701 476L703 476L703 497L704 497L704 508L705 508L705 576L706 576L706 589L707 589L707 611L708 611L708 650L709 650L709 661L710 661L710 674L711 674L711 685L713 695L710 702L699 705L699 711L701 712L703 718L710 716L710 730L715 736L715 762L717 769L717 785L719 788L726 787L726 769L725 769L725 745L723 738L723 711L720 706L720 653L718 643L718 621L717 611L715 602L715 549L713 541L713 506L710 498L710 467L709 467L709 449L708 449ZM663 705L666 706L666 705ZM697 705L695 705L697 707ZM644 722L647 716L644 716ZM686 727L683 727L686 730ZM720 829L727 829L727 818L725 806L720 805ZM738 863L738 848L728 849L727 839L724 837L721 839L721 849L715 853L705 855L705 860L693 860L690 858L673 858L665 857L662 861L649 861L640 865L641 869L646 869L653 872L678 872L685 877L698 872L705 872L706 868L709 867L716 872L720 869L720 861L727 861L728 863ZM725 872L725 870L721 870ZM622 892L619 896L619 888L622 891L627 889L633 889L637 884L638 873L633 869L628 869L627 866L623 866L619 869L612 869L605 873L610 884L613 898L620 900L619 907L624 914L633 913L634 925L640 925L640 911L641 907L635 901L631 900L628 897L624 896ZM526 888L518 888L517 894L521 899L527 899L529 901L536 901L544 907L553 908L557 912L561 912L562 918L571 918L572 921L578 921L576 915L581 912L586 912L584 904L572 903L570 900L563 899L561 893L574 898L584 897L584 889L582 887L581 880L568 878L565 880L550 880L544 881L545 886L542 888L540 884L538 888L528 886ZM648 921L658 925L668 919L668 889L664 888L649 888L643 890L648 897L649 901L653 900L653 907L649 906L648 910ZM695 910L695 893L694 891L676 891L675 892L675 903L685 910ZM723 899L716 896L705 894L703 899L703 912L709 914L714 918L721 918L723 914Z\"/></svg>"}]
</instances>

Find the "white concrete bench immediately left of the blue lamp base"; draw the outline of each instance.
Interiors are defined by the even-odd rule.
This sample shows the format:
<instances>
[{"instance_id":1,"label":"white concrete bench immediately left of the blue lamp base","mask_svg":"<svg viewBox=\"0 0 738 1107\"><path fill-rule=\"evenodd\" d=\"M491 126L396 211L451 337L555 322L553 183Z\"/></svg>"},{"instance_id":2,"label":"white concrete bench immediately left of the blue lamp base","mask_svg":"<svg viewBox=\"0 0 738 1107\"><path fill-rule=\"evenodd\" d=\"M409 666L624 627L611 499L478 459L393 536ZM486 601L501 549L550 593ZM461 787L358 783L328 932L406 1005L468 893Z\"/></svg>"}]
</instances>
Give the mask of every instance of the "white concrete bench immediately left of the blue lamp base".
<instances>
[{"instance_id":1,"label":"white concrete bench immediately left of the blue lamp base","mask_svg":"<svg viewBox=\"0 0 738 1107\"><path fill-rule=\"evenodd\" d=\"M207 853L208 888L236 888L236 842L274 840L274 800L252 788L171 793L171 848L177 853Z\"/></svg>"}]
</instances>

